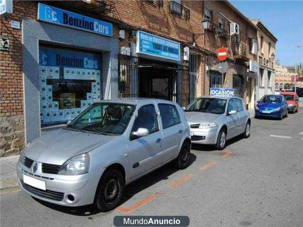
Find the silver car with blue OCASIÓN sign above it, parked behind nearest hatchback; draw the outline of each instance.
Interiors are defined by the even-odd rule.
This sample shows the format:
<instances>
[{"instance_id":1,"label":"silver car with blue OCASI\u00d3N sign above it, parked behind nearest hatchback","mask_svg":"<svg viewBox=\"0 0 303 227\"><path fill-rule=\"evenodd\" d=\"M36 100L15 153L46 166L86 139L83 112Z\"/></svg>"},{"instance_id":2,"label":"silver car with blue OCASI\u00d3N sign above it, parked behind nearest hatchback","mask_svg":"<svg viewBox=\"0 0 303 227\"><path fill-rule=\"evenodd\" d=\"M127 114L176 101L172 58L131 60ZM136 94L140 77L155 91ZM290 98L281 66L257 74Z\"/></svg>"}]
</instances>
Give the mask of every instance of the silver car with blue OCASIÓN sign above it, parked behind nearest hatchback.
<instances>
[{"instance_id":1,"label":"silver car with blue OCASI\u00d3N sign above it, parked behind nearest hatchback","mask_svg":"<svg viewBox=\"0 0 303 227\"><path fill-rule=\"evenodd\" d=\"M204 96L193 100L185 108L190 125L191 142L214 144L222 150L226 140L238 135L250 135L250 117L238 97Z\"/></svg>"}]
</instances>

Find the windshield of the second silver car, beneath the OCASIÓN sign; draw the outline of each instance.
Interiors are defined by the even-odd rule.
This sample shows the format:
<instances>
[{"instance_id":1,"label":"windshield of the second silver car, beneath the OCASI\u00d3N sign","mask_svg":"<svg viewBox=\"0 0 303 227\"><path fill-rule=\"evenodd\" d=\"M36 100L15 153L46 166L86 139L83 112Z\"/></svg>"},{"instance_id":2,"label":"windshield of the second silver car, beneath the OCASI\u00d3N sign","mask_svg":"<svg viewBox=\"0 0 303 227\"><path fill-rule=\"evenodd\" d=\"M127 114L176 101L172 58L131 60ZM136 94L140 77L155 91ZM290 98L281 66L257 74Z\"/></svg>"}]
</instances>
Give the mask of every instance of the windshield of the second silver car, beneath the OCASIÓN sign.
<instances>
[{"instance_id":1,"label":"windshield of the second silver car, beneath the OCASI\u00d3N sign","mask_svg":"<svg viewBox=\"0 0 303 227\"><path fill-rule=\"evenodd\" d=\"M184 111L209 112L221 115L225 112L226 99L197 98L193 100Z\"/></svg>"}]
</instances>

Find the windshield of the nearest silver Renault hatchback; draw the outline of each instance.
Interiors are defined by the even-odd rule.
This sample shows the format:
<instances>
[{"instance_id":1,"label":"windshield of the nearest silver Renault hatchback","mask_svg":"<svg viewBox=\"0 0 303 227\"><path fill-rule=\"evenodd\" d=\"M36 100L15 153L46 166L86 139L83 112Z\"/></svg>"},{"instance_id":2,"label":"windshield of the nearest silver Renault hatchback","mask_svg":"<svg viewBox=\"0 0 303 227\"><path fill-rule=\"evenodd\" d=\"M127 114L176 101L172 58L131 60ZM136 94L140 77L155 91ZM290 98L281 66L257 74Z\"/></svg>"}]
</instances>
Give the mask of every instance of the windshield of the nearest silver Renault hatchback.
<instances>
[{"instance_id":1,"label":"windshield of the nearest silver Renault hatchback","mask_svg":"<svg viewBox=\"0 0 303 227\"><path fill-rule=\"evenodd\" d=\"M95 103L75 118L67 128L109 135L122 134L135 109L121 103Z\"/></svg>"}]
</instances>

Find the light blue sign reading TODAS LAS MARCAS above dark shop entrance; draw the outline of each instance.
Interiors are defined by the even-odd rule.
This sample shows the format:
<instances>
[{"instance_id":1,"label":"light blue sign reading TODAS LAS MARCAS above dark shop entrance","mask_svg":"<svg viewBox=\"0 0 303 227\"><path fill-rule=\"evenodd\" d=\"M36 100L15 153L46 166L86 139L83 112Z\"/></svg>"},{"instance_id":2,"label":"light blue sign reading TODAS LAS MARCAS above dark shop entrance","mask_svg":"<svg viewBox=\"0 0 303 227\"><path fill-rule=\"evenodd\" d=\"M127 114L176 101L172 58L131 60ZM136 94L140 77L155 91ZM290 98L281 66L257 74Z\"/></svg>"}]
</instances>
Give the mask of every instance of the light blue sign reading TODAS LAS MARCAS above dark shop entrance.
<instances>
[{"instance_id":1,"label":"light blue sign reading TODAS LAS MARCAS above dark shop entrance","mask_svg":"<svg viewBox=\"0 0 303 227\"><path fill-rule=\"evenodd\" d=\"M180 43L138 31L137 53L180 61Z\"/></svg>"}]
</instances>

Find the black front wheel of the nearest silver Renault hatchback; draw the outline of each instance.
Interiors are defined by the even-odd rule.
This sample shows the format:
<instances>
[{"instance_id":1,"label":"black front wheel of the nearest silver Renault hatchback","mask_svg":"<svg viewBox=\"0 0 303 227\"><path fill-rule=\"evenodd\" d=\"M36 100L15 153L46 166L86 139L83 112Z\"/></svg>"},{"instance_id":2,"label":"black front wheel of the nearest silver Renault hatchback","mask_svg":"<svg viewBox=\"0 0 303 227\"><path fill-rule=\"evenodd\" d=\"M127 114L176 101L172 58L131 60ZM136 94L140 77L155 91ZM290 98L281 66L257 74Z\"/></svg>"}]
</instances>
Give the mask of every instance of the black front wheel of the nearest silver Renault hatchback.
<instances>
[{"instance_id":1,"label":"black front wheel of the nearest silver Renault hatchback","mask_svg":"<svg viewBox=\"0 0 303 227\"><path fill-rule=\"evenodd\" d=\"M95 198L94 208L99 211L110 211L114 209L124 191L124 178L116 168L107 169L101 177Z\"/></svg>"}]
</instances>

